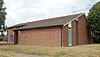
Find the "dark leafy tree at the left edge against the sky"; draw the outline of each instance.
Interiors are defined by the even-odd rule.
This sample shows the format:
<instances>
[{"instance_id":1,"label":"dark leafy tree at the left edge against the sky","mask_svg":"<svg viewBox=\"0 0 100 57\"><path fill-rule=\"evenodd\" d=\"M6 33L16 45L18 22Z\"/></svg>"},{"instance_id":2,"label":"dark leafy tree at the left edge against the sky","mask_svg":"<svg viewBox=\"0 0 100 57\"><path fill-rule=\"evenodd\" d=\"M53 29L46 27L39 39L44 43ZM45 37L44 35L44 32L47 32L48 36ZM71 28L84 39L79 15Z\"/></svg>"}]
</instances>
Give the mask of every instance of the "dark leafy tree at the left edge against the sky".
<instances>
[{"instance_id":1,"label":"dark leafy tree at the left edge against the sky","mask_svg":"<svg viewBox=\"0 0 100 57\"><path fill-rule=\"evenodd\" d=\"M6 15L6 12L5 12L5 7L3 7L4 5L4 1L3 0L0 0L0 32L1 32L1 35L4 36L3 32L6 31L5 29L5 15Z\"/></svg>"}]
</instances>

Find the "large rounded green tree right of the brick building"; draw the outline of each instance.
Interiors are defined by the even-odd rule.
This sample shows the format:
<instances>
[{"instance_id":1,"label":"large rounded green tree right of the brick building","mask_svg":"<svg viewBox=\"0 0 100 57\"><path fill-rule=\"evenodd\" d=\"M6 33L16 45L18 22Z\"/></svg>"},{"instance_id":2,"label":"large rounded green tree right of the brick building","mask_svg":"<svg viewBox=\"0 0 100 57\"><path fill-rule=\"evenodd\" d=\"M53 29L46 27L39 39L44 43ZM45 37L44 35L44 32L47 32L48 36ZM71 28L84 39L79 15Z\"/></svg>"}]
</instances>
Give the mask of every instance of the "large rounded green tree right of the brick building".
<instances>
[{"instance_id":1,"label":"large rounded green tree right of the brick building","mask_svg":"<svg viewBox=\"0 0 100 57\"><path fill-rule=\"evenodd\" d=\"M100 43L100 1L89 10L87 21L93 42Z\"/></svg>"}]
</instances>

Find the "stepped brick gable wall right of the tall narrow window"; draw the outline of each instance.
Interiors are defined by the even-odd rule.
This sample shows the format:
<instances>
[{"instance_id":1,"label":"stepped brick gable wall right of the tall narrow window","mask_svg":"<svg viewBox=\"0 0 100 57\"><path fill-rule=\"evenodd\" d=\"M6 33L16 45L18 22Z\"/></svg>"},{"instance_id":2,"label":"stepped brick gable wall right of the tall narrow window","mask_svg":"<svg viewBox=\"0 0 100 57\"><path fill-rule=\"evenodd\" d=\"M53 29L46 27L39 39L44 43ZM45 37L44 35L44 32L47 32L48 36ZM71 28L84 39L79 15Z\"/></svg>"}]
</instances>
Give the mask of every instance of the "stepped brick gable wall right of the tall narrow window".
<instances>
[{"instance_id":1,"label":"stepped brick gable wall right of the tall narrow window","mask_svg":"<svg viewBox=\"0 0 100 57\"><path fill-rule=\"evenodd\" d=\"M72 45L88 43L86 17L83 15L72 22Z\"/></svg>"}]
</instances>

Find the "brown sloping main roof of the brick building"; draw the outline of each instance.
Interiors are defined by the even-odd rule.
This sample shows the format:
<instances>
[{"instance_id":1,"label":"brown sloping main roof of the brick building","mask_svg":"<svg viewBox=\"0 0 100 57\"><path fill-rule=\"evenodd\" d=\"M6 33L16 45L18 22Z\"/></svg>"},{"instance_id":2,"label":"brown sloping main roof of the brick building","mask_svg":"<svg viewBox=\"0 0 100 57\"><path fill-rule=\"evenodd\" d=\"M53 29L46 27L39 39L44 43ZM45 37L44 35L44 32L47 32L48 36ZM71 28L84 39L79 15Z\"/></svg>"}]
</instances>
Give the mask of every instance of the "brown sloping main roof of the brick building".
<instances>
[{"instance_id":1,"label":"brown sloping main roof of the brick building","mask_svg":"<svg viewBox=\"0 0 100 57\"><path fill-rule=\"evenodd\" d=\"M80 13L80 14L50 18L50 19L40 20L40 21L35 21L35 22L23 23L20 25L24 25L24 26L16 28L15 30L64 25L64 24L74 20L75 18L78 18L79 16L81 16L83 14L84 13Z\"/></svg>"}]
</instances>

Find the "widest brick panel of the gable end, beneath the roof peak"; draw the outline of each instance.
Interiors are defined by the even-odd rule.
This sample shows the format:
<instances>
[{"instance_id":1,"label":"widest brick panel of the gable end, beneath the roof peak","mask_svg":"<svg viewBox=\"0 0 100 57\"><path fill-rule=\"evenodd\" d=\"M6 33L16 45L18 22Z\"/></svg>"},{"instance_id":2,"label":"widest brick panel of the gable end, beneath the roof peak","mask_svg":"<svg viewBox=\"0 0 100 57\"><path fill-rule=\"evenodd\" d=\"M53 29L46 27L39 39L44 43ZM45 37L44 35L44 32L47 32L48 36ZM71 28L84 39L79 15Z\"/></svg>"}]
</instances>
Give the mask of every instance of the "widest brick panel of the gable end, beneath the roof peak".
<instances>
[{"instance_id":1,"label":"widest brick panel of the gable end, beneath the roof peak","mask_svg":"<svg viewBox=\"0 0 100 57\"><path fill-rule=\"evenodd\" d=\"M87 33L87 25L86 25L86 17L81 16L78 19L78 44L86 44L88 43L88 33Z\"/></svg>"}]
</instances>

